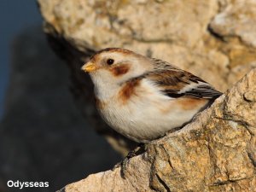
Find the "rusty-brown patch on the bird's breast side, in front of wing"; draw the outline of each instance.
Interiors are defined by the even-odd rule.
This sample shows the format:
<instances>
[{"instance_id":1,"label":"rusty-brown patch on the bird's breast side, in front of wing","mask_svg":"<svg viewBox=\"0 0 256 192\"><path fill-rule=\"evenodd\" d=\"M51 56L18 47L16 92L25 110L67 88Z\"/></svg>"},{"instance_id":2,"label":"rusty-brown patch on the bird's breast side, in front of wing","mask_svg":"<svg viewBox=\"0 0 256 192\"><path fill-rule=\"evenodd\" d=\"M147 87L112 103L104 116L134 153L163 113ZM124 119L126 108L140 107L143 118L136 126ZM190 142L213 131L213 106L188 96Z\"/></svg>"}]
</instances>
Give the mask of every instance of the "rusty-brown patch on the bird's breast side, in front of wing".
<instances>
[{"instance_id":1,"label":"rusty-brown patch on the bird's breast side, in front of wing","mask_svg":"<svg viewBox=\"0 0 256 192\"><path fill-rule=\"evenodd\" d=\"M131 96L136 95L136 88L140 84L140 79L132 80L126 83L119 91L119 98L123 103L128 102Z\"/></svg>"}]
</instances>

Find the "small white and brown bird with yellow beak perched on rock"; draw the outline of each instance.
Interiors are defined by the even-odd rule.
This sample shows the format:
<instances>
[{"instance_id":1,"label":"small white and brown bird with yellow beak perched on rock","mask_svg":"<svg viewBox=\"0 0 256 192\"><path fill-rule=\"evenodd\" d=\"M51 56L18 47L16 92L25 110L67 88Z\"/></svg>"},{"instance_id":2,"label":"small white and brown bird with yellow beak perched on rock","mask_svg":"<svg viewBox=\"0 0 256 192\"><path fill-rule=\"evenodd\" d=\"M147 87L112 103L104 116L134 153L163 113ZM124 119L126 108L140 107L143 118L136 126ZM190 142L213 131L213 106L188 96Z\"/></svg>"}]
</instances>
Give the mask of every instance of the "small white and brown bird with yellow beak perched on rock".
<instances>
[{"instance_id":1,"label":"small white and brown bird with yellow beak perched on rock","mask_svg":"<svg viewBox=\"0 0 256 192\"><path fill-rule=\"evenodd\" d=\"M181 128L222 94L166 61L128 49L102 49L82 70L94 83L102 119L137 143Z\"/></svg>"}]
</instances>

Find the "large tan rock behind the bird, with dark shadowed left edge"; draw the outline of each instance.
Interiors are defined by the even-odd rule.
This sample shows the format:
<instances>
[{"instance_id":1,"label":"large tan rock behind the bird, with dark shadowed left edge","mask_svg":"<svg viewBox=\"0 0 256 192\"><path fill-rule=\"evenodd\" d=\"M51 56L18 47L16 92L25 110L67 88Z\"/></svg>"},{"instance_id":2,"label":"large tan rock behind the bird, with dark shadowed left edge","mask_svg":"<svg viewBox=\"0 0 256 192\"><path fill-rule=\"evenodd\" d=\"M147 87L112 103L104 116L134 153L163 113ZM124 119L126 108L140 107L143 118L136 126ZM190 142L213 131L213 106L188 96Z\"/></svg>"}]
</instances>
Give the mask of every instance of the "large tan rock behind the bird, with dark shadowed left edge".
<instances>
[{"instance_id":1,"label":"large tan rock behind the bird, with dark shadowed left edge","mask_svg":"<svg viewBox=\"0 0 256 192\"><path fill-rule=\"evenodd\" d=\"M132 145L108 128L80 67L97 49L123 47L170 61L227 90L256 66L255 0L38 0L44 31L69 64L84 117L113 148Z\"/></svg>"}]
</instances>

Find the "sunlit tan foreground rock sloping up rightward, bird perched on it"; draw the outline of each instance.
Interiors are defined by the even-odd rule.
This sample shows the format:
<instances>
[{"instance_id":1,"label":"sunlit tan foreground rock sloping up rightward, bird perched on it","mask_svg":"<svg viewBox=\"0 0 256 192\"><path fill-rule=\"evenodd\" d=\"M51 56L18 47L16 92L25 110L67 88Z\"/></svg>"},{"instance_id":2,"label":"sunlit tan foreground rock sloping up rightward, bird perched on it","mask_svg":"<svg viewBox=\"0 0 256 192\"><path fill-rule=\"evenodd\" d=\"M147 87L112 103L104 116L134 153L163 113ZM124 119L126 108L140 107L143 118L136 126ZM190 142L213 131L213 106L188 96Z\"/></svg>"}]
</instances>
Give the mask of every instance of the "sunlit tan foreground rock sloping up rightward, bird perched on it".
<instances>
[{"instance_id":1,"label":"sunlit tan foreground rock sloping up rightward, bird perched on it","mask_svg":"<svg viewBox=\"0 0 256 192\"><path fill-rule=\"evenodd\" d=\"M255 77L253 69L192 123L149 143L125 178L118 168L61 191L255 191Z\"/></svg>"}]
</instances>

